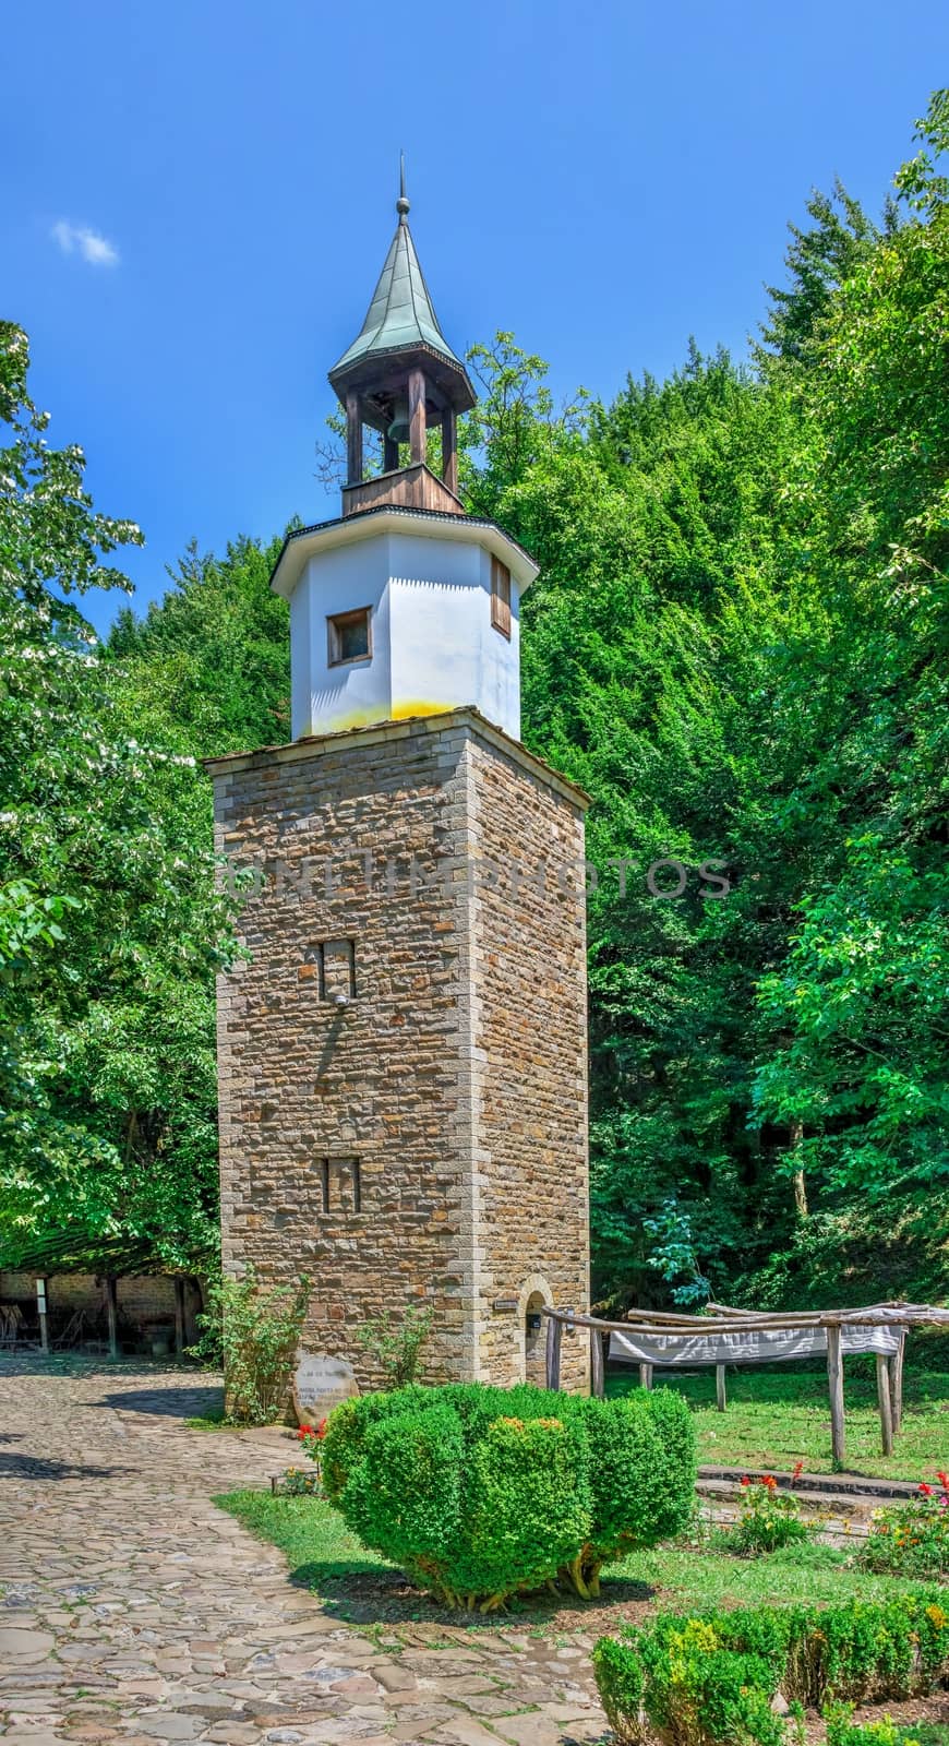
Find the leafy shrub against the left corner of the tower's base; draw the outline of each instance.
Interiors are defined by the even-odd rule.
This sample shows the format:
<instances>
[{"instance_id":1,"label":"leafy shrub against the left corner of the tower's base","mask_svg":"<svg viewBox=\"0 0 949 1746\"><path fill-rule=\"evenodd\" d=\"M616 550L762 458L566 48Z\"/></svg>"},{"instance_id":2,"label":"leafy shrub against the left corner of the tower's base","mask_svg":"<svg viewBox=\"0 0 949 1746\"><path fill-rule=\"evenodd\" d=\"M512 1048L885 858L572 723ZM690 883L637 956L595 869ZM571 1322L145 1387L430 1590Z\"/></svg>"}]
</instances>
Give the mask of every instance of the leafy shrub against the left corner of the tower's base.
<instances>
[{"instance_id":1,"label":"leafy shrub against the left corner of the tower's base","mask_svg":"<svg viewBox=\"0 0 949 1746\"><path fill-rule=\"evenodd\" d=\"M230 1425L272 1425L284 1411L309 1299L305 1276L297 1285L262 1287L248 1268L239 1280L211 1282L192 1355L223 1365Z\"/></svg>"}]
</instances>

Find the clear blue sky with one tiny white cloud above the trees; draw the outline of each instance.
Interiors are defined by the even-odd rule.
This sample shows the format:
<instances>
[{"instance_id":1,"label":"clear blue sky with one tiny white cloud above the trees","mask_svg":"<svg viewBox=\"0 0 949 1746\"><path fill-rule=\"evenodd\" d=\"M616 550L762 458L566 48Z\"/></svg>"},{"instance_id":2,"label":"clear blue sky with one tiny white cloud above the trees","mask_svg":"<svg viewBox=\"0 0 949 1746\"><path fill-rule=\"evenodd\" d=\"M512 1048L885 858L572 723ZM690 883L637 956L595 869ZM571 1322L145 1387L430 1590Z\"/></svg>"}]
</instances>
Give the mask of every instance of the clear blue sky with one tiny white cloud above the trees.
<instances>
[{"instance_id":1,"label":"clear blue sky with one tiny white cloud above the trees","mask_svg":"<svg viewBox=\"0 0 949 1746\"><path fill-rule=\"evenodd\" d=\"M335 513L314 477L394 227L398 150L441 325L558 395L743 353L787 222L874 211L946 82L932 0L49 0L3 23L2 314L54 443L134 517L145 608L190 538ZM117 597L91 604L105 627Z\"/></svg>"}]
</instances>

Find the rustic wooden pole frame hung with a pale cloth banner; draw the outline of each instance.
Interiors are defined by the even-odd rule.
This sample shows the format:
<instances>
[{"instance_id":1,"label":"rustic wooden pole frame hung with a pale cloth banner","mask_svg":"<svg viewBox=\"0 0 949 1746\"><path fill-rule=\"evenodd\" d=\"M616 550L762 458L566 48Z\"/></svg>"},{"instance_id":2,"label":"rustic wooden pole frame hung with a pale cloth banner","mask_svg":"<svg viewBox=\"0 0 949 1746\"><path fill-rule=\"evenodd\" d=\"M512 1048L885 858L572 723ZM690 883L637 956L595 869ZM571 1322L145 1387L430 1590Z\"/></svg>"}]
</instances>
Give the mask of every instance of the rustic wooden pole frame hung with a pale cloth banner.
<instances>
[{"instance_id":1,"label":"rustic wooden pole frame hung with a pale cloth banner","mask_svg":"<svg viewBox=\"0 0 949 1746\"><path fill-rule=\"evenodd\" d=\"M904 1351L905 1336L911 1327L949 1327L949 1310L933 1304L884 1303L858 1310L799 1310L799 1311L759 1311L729 1310L726 1304L708 1304L705 1315L673 1315L652 1310L630 1310L626 1320L607 1322L598 1316L574 1315L572 1310L544 1308L548 1318L546 1341L546 1383L548 1388L560 1388L560 1341L563 1329L590 1329L590 1371L591 1392L604 1393L605 1344L604 1337L621 1336L628 1343L642 1341L651 1351L659 1350L663 1357L642 1360L638 1364L644 1388L652 1385L654 1362L713 1364L715 1397L719 1411L726 1409L726 1364L769 1364L782 1362L769 1355L762 1336L811 1332L811 1351L827 1351L827 1385L830 1392L830 1444L834 1465L843 1467L846 1460L844 1428L844 1355L843 1336L848 1330L850 1351L874 1351L872 1332L891 1332L890 1353L876 1351L876 1385L879 1400L879 1426L883 1454L893 1453L893 1437L900 1430L904 1413ZM862 1346L860 1330L867 1339ZM738 1339L736 1339L738 1336ZM747 1355L741 1351L745 1336ZM696 1341L710 1350L712 1357L694 1357ZM673 1357L680 1346L680 1357ZM804 1341L806 1344L806 1341ZM879 1346L879 1337L876 1339ZM804 1353L808 1355L808 1353ZM626 1360L630 1362L630 1360ZM635 1360L632 1360L635 1362ZM787 1360L785 1360L787 1362Z\"/></svg>"}]
</instances>

